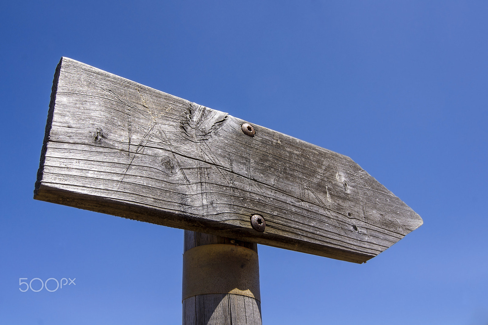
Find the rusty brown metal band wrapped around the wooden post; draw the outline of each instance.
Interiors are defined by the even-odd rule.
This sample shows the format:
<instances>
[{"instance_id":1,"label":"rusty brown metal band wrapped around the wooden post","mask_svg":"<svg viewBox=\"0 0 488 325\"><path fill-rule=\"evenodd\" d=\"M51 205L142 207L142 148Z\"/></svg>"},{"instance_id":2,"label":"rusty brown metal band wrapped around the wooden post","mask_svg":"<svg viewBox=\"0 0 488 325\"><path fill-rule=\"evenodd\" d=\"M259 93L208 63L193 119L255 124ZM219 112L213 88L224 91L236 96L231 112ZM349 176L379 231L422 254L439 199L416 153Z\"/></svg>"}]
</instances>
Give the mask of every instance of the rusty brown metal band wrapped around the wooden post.
<instances>
[{"instance_id":1,"label":"rusty brown metal band wrapped around the wooden post","mask_svg":"<svg viewBox=\"0 0 488 325\"><path fill-rule=\"evenodd\" d=\"M208 244L183 254L183 300L209 293L232 293L261 301L258 254L229 244Z\"/></svg>"}]
</instances>

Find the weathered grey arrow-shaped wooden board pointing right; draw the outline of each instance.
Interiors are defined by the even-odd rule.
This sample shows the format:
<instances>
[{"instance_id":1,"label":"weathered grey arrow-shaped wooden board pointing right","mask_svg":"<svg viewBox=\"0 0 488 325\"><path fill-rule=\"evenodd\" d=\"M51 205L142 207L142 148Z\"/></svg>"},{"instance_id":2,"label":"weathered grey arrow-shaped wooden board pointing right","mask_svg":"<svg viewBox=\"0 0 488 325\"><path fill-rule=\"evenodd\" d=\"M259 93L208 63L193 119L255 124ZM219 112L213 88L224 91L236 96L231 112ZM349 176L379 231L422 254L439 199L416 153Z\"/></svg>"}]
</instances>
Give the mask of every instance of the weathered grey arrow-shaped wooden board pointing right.
<instances>
[{"instance_id":1,"label":"weathered grey arrow-shaped wooden board pointing right","mask_svg":"<svg viewBox=\"0 0 488 325\"><path fill-rule=\"evenodd\" d=\"M350 158L244 122L62 58L34 198L356 263L422 224Z\"/></svg>"}]
</instances>

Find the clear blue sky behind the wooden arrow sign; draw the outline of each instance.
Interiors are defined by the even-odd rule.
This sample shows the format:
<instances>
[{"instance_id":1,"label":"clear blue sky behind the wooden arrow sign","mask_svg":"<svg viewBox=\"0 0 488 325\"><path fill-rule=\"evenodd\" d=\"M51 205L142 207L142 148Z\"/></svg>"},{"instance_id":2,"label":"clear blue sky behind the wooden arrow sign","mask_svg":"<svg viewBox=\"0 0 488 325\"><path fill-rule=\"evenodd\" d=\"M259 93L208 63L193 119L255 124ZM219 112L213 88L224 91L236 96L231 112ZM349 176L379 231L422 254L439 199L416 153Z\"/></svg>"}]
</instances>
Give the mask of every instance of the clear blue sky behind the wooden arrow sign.
<instances>
[{"instance_id":1,"label":"clear blue sky behind the wooden arrow sign","mask_svg":"<svg viewBox=\"0 0 488 325\"><path fill-rule=\"evenodd\" d=\"M349 156L422 216L366 264L260 245L264 324L487 325L487 17L486 1L3 1L0 323L181 323L183 230L32 199L65 56Z\"/></svg>"}]
</instances>

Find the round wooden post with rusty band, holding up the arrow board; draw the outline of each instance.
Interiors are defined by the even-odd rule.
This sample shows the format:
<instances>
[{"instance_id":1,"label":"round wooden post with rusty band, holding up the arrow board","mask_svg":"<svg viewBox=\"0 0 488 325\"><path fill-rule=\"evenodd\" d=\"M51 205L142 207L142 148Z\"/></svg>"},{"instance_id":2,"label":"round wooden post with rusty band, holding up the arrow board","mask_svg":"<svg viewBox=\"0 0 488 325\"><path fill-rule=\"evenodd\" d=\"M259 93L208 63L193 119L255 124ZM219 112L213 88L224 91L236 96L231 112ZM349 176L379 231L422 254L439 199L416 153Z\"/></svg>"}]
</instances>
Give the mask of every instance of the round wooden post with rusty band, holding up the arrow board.
<instances>
[{"instance_id":1,"label":"round wooden post with rusty band, holding up the arrow board","mask_svg":"<svg viewBox=\"0 0 488 325\"><path fill-rule=\"evenodd\" d=\"M261 325L257 244L184 231L183 325Z\"/></svg>"}]
</instances>

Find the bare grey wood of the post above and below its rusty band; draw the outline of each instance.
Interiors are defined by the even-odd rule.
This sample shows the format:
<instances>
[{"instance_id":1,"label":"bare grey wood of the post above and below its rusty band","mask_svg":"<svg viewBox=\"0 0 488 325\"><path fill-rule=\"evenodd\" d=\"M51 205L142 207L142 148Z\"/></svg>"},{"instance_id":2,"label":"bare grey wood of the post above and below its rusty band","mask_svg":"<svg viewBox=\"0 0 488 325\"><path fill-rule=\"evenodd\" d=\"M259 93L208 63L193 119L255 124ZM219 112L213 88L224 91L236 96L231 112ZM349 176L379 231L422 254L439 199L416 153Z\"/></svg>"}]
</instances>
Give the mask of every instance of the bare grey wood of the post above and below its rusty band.
<instances>
[{"instance_id":1,"label":"bare grey wood of the post above and below its rusty band","mask_svg":"<svg viewBox=\"0 0 488 325\"><path fill-rule=\"evenodd\" d=\"M253 249L257 245L200 232L184 232L184 252L206 244L234 244ZM195 270L199 272L200 270ZM183 280L184 281L184 280ZM216 279L218 281L218 279ZM203 294L183 300L183 325L261 325L259 300L236 294Z\"/></svg>"}]
</instances>

